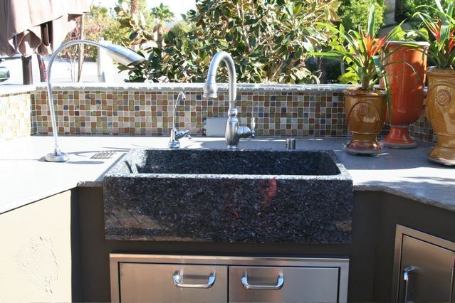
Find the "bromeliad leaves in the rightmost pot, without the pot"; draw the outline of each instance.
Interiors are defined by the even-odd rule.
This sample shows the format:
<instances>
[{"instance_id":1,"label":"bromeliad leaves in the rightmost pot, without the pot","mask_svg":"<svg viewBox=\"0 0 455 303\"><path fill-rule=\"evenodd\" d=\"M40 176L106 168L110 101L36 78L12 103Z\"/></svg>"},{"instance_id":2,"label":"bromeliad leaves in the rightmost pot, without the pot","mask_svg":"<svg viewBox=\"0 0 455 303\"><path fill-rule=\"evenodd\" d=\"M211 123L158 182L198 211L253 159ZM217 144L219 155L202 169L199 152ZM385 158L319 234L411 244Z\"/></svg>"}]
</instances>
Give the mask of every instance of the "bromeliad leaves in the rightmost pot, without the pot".
<instances>
[{"instance_id":1,"label":"bromeliad leaves in the rightmost pot, without the pot","mask_svg":"<svg viewBox=\"0 0 455 303\"><path fill-rule=\"evenodd\" d=\"M436 68L455 69L455 20L454 1L451 1L447 9L441 5L440 0L435 0L436 8L433 6L419 6L418 9L436 11L434 18L428 12L419 11L415 16L422 19L422 28L419 33L430 43L429 59L436 65ZM429 35L432 34L432 36Z\"/></svg>"}]
</instances>

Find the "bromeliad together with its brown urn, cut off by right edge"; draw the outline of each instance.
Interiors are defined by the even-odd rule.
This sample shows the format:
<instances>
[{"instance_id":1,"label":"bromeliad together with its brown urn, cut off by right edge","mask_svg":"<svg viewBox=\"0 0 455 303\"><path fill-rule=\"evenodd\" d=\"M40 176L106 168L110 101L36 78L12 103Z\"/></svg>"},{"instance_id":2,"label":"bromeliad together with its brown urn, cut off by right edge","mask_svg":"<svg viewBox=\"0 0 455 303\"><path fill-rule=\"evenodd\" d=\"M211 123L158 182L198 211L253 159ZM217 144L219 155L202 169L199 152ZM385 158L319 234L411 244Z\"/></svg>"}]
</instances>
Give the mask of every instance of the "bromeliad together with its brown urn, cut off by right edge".
<instances>
[{"instance_id":1,"label":"bromeliad together with its brown urn, cut off by right edge","mask_svg":"<svg viewBox=\"0 0 455 303\"><path fill-rule=\"evenodd\" d=\"M429 158L441 164L455 165L455 21L454 1L447 9L435 0L436 8L420 6L427 11L435 9L437 17L418 12L427 31L420 31L430 43L429 59L434 66L427 70L427 118L432 124L437 143ZM429 32L429 33L428 33ZM431 34L430 34L431 33Z\"/></svg>"}]
</instances>

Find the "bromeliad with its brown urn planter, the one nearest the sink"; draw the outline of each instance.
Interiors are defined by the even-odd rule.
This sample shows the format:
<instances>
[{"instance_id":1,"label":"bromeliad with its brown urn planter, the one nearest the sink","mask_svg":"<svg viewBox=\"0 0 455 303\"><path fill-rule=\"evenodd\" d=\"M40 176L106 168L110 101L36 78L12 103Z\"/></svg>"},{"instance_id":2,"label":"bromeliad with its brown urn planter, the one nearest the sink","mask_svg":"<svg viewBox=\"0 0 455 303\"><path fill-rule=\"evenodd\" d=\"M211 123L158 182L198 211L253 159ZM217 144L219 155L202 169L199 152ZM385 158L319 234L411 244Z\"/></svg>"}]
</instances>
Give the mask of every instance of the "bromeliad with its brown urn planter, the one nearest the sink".
<instances>
[{"instance_id":1,"label":"bromeliad with its brown urn planter, the one nearest the sink","mask_svg":"<svg viewBox=\"0 0 455 303\"><path fill-rule=\"evenodd\" d=\"M360 87L343 91L345 96L346 124L352 133L350 142L345 151L350 154L378 154L382 151L377 135L382 129L387 104L390 102L388 81L385 77L385 65L382 64L393 52L386 52L385 46L390 38L397 33L399 26L389 31L387 35L377 38L375 33L375 6L372 4L368 16L367 33L349 31L344 28L335 28L326 23L318 23L329 31L336 33L328 52L313 53L335 59L341 59L349 66L344 78L351 78L351 82L358 80ZM383 79L385 89L376 85ZM392 116L392 107L389 104L389 117Z\"/></svg>"}]
</instances>

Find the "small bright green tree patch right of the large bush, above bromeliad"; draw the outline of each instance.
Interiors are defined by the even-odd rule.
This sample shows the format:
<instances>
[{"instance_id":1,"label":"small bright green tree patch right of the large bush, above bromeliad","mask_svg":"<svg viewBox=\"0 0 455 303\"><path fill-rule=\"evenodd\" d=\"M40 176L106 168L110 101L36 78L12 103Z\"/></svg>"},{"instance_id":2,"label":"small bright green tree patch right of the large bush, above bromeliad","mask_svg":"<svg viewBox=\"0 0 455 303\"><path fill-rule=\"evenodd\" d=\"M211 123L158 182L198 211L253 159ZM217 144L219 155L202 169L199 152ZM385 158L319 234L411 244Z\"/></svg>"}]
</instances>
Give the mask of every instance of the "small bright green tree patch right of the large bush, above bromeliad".
<instances>
[{"instance_id":1,"label":"small bright green tree patch right of the large bush, above bromeliad","mask_svg":"<svg viewBox=\"0 0 455 303\"><path fill-rule=\"evenodd\" d=\"M387 10L384 0L341 0L342 4L338 13L342 16L342 25L346 31L358 31L367 29L367 12L371 4L375 4L375 31L384 26L384 14ZM414 1L414 0L409 0Z\"/></svg>"}]
</instances>

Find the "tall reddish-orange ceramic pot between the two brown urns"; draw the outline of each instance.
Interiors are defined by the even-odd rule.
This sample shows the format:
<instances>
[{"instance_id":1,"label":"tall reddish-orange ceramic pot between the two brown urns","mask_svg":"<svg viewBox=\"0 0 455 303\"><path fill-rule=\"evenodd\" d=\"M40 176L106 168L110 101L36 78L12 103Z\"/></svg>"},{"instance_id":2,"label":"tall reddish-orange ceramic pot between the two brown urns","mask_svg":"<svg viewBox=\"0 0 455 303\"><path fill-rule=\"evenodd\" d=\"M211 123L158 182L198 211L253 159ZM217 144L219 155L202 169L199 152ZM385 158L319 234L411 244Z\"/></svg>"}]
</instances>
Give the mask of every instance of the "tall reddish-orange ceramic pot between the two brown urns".
<instances>
[{"instance_id":1,"label":"tall reddish-orange ceramic pot between the two brown urns","mask_svg":"<svg viewBox=\"0 0 455 303\"><path fill-rule=\"evenodd\" d=\"M418 47L402 46L403 43L392 41L387 46L388 50L399 49L387 59L394 63L386 67L392 99L392 121L389 134L382 139L382 145L396 149L412 149L417 147L417 142L409 136L408 129L409 124L416 122L422 115L429 43L413 42ZM404 62L412 65L414 70Z\"/></svg>"}]
</instances>

